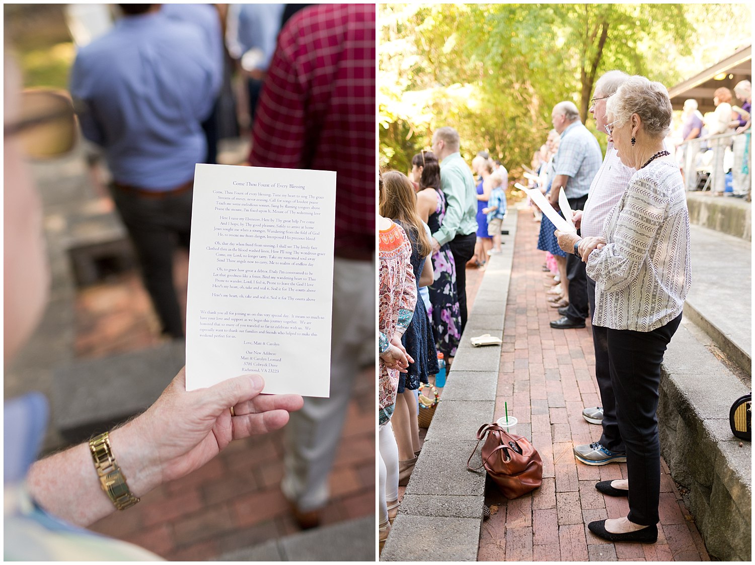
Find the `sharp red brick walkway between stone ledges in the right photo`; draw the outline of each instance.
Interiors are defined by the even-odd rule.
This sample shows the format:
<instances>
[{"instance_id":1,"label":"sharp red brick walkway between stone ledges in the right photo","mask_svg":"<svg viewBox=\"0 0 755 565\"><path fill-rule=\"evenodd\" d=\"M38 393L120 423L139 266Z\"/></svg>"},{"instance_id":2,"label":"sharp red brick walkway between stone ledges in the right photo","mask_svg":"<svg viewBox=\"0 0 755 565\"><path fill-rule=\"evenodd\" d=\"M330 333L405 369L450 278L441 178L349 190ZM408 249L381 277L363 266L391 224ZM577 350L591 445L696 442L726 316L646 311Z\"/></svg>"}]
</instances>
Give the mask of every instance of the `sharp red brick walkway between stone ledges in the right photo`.
<instances>
[{"instance_id":1,"label":"sharp red brick walkway between stone ledges in the right photo","mask_svg":"<svg viewBox=\"0 0 755 565\"><path fill-rule=\"evenodd\" d=\"M627 515L627 499L602 496L594 487L626 478L627 466L591 467L573 456L575 444L600 438L600 426L581 416L584 407L600 404L595 355L589 323L583 330L549 326L559 315L546 299L539 229L529 210L519 211L495 418L507 402L519 419L517 433L532 439L541 454L543 484L511 501L495 487L486 490L494 514L482 525L478 560L710 560L665 462L658 542L607 543L587 530L590 521Z\"/></svg>"}]
</instances>

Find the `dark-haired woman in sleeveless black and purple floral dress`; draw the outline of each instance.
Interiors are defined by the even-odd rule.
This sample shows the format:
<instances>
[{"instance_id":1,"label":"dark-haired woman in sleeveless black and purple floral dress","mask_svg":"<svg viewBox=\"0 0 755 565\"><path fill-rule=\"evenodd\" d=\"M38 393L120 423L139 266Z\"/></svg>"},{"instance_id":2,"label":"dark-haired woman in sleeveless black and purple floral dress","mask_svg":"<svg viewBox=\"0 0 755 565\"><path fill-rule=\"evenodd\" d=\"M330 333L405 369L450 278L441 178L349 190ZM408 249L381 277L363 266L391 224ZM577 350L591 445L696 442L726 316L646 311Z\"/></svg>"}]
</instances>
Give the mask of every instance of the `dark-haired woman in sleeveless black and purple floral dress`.
<instances>
[{"instance_id":1,"label":"dark-haired woman in sleeveless black and purple floral dress","mask_svg":"<svg viewBox=\"0 0 755 565\"><path fill-rule=\"evenodd\" d=\"M424 153L424 162L420 190L417 193L417 212L430 226L430 232L435 233L440 229L445 216L445 195L440 189L440 164L435 155ZM450 367L461 339L461 313L455 290L456 264L447 243L437 253L433 253L433 275L434 281L430 285L431 307L427 313L433 322L436 349L443 354Z\"/></svg>"}]
</instances>

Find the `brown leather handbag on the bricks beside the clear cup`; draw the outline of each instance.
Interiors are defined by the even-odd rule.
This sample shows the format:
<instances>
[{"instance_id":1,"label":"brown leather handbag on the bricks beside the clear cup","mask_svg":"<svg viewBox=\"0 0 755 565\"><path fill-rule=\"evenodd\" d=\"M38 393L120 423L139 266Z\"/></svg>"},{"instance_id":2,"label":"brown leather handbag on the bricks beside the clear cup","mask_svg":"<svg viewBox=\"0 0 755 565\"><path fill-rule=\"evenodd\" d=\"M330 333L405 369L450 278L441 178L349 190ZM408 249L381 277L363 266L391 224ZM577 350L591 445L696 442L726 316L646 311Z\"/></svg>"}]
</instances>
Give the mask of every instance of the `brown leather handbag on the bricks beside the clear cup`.
<instances>
[{"instance_id":1,"label":"brown leather handbag on the bricks beside the clear cup","mask_svg":"<svg viewBox=\"0 0 755 565\"><path fill-rule=\"evenodd\" d=\"M470 467L470 461L482 444L482 465ZM507 499L516 499L543 484L543 461L540 453L527 438L508 434L498 424L484 424L477 430L477 444L467 459L467 469L479 471L482 467L495 481Z\"/></svg>"}]
</instances>

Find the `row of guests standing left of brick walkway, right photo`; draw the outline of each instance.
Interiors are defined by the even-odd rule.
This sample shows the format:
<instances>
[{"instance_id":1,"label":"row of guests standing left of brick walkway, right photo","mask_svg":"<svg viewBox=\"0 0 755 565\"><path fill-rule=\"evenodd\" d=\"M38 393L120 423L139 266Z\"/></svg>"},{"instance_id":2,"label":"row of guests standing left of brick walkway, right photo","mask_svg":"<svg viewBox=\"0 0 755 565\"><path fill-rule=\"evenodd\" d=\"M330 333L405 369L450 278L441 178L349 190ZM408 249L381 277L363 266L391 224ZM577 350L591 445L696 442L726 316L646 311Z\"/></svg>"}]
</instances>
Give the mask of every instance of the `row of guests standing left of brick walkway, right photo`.
<instances>
[{"instance_id":1,"label":"row of guests standing left of brick walkway, right photo","mask_svg":"<svg viewBox=\"0 0 755 565\"><path fill-rule=\"evenodd\" d=\"M411 180L389 170L379 181L381 548L421 450L418 388L439 358L450 369L467 322L467 263L501 253L506 213L505 168L481 152L475 183L453 128L436 130L433 151L411 164Z\"/></svg>"}]
</instances>

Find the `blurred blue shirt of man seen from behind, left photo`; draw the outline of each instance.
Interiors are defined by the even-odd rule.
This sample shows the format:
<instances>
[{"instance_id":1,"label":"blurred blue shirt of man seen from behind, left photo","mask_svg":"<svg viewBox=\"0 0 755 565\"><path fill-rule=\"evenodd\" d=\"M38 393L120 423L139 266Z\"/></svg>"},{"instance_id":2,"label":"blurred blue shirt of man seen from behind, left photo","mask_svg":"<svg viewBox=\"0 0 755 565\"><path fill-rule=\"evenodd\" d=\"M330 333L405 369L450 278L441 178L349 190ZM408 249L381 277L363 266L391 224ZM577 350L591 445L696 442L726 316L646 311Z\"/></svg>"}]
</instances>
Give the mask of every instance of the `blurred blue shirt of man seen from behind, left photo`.
<instances>
[{"instance_id":1,"label":"blurred blue shirt of man seen from behind, left photo","mask_svg":"<svg viewBox=\"0 0 755 565\"><path fill-rule=\"evenodd\" d=\"M200 124L217 78L196 26L159 12L123 17L79 51L71 94L82 132L105 149L119 183L168 190L205 157Z\"/></svg>"}]
</instances>

